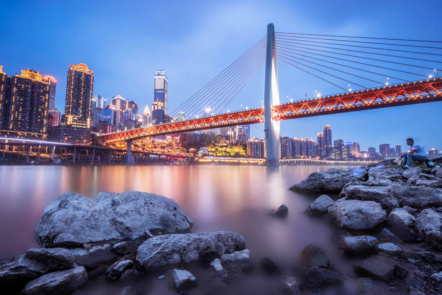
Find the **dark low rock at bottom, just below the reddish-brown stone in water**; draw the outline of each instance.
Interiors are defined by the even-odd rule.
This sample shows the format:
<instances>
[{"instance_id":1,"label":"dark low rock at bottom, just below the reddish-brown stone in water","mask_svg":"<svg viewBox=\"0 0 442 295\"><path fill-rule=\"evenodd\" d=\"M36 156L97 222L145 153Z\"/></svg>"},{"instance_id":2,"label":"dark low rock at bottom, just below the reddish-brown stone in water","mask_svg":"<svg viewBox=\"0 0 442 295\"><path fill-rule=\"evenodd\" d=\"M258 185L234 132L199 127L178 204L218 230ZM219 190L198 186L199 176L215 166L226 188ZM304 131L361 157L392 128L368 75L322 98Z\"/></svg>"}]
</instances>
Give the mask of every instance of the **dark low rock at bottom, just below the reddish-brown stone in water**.
<instances>
[{"instance_id":1,"label":"dark low rock at bottom, just below the reddish-brown stone in water","mask_svg":"<svg viewBox=\"0 0 442 295\"><path fill-rule=\"evenodd\" d=\"M300 288L304 290L317 290L328 285L341 283L342 278L339 273L328 268L313 267L305 271L301 278Z\"/></svg>"}]
</instances>

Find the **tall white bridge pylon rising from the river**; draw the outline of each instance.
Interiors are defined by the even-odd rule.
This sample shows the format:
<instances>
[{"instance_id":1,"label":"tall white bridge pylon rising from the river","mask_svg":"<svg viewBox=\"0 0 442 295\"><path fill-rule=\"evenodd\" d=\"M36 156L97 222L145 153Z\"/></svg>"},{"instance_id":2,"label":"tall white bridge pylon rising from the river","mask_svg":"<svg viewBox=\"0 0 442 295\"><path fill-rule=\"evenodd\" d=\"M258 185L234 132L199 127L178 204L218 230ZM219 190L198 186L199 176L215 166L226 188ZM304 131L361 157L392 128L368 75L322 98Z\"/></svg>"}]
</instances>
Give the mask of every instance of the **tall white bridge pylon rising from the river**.
<instances>
[{"instance_id":1,"label":"tall white bridge pylon rising from the river","mask_svg":"<svg viewBox=\"0 0 442 295\"><path fill-rule=\"evenodd\" d=\"M264 83L264 138L267 166L279 165L279 121L273 121L272 105L279 104L278 71L274 54L273 24L267 25L266 76Z\"/></svg>"}]
</instances>

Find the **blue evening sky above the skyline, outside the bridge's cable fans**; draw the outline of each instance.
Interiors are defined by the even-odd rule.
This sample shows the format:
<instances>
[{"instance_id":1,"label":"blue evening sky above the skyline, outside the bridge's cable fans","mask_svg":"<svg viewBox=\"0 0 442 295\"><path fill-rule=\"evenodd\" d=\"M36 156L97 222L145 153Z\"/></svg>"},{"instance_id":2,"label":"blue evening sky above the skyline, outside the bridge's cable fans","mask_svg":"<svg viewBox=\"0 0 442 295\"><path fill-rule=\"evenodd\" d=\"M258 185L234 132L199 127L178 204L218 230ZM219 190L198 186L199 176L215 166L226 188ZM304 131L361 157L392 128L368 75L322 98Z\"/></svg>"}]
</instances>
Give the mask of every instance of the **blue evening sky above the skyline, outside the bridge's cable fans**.
<instances>
[{"instance_id":1,"label":"blue evening sky above the skyline, outside the bridge's cable fans","mask_svg":"<svg viewBox=\"0 0 442 295\"><path fill-rule=\"evenodd\" d=\"M70 64L94 71L94 94L109 102L120 93L140 109L153 101L155 70L165 69L174 109L263 37L269 22L284 32L442 40L435 14L441 9L440 1L411 0L7 1L0 10L0 65L10 76L26 68L54 76L62 111ZM278 77L281 102L313 97L315 90L342 92L283 63ZM260 106L263 81L262 69L228 108ZM426 150L442 150L441 109L438 102L288 120L281 135L316 139L328 123L333 139L359 142L361 149L378 150L381 143L404 149L414 137ZM262 130L252 125L251 135L263 138Z\"/></svg>"}]
</instances>

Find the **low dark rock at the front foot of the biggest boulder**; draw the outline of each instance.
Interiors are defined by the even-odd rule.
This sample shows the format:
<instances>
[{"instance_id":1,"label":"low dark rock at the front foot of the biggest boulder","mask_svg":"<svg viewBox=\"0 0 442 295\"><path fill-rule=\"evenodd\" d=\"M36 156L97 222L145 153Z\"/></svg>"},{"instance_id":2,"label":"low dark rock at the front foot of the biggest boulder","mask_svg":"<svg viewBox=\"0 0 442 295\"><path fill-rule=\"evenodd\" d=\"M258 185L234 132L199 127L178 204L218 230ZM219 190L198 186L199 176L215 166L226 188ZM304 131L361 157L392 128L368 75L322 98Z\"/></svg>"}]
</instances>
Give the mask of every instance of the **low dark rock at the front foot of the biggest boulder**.
<instances>
[{"instance_id":1,"label":"low dark rock at the front foot of the biggest boulder","mask_svg":"<svg viewBox=\"0 0 442 295\"><path fill-rule=\"evenodd\" d=\"M82 248L72 249L71 252L74 254L75 263L85 268L97 268L100 265L109 266L116 259L110 244L94 246L89 250Z\"/></svg>"}]
</instances>

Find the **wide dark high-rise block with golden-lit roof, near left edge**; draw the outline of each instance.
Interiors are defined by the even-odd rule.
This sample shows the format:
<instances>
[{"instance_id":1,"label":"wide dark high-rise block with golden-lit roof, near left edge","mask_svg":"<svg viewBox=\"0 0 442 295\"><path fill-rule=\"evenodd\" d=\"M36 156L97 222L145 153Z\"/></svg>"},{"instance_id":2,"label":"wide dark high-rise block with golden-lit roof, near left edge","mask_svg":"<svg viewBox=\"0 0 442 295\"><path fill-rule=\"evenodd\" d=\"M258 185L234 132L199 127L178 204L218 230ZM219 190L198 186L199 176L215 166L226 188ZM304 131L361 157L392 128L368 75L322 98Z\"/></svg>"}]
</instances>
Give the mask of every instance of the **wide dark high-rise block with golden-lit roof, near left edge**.
<instances>
[{"instance_id":1,"label":"wide dark high-rise block with golden-lit roof, near left edge","mask_svg":"<svg viewBox=\"0 0 442 295\"><path fill-rule=\"evenodd\" d=\"M22 70L10 79L6 129L45 134L49 83L37 71Z\"/></svg>"}]
</instances>

